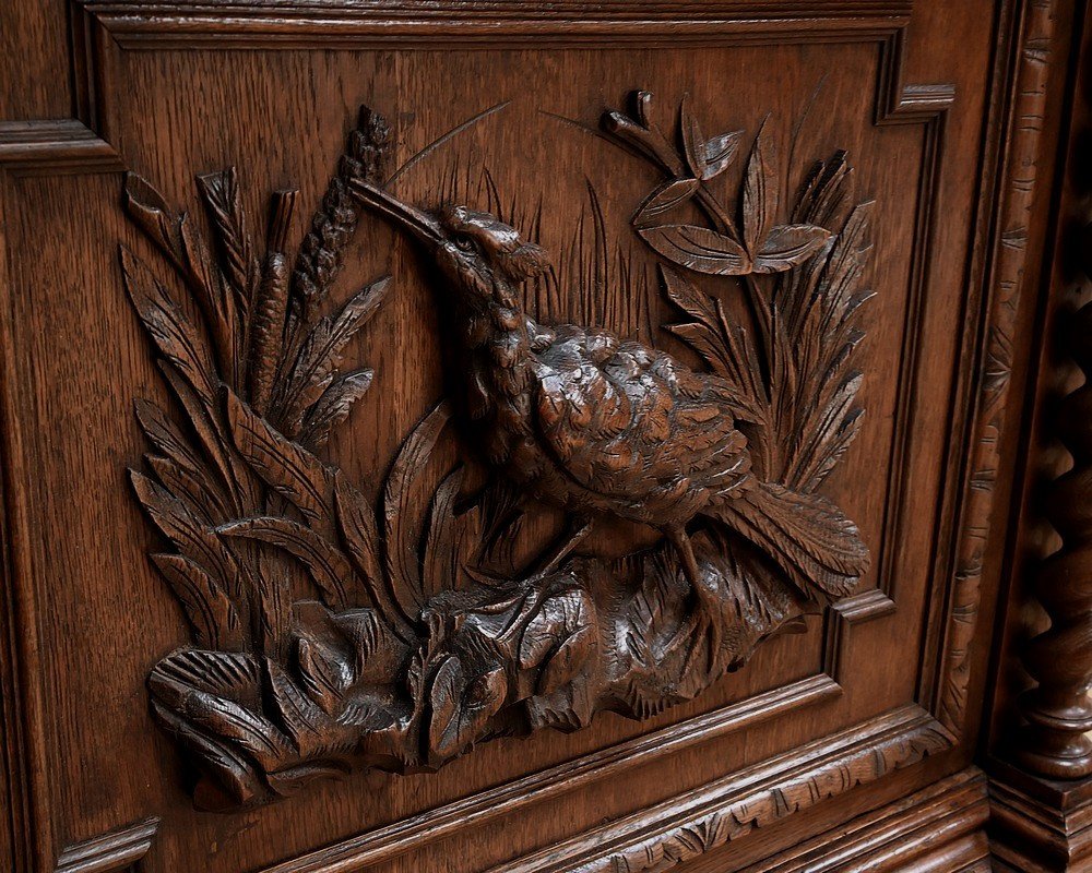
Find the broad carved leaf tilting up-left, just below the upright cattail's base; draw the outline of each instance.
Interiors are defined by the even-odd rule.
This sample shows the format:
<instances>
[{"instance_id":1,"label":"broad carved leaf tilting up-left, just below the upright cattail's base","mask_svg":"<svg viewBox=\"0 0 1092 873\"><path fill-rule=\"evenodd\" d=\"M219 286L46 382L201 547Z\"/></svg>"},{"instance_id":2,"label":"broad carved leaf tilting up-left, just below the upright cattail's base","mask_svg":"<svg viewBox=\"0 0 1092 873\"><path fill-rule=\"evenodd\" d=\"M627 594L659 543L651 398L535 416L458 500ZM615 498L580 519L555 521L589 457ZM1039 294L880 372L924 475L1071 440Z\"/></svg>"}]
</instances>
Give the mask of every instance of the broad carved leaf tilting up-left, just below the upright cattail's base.
<instances>
[{"instance_id":1,"label":"broad carved leaf tilting up-left, just below the upright cattail's base","mask_svg":"<svg viewBox=\"0 0 1092 873\"><path fill-rule=\"evenodd\" d=\"M331 471L310 452L277 433L234 392L224 392L224 408L235 447L254 473L308 521L329 527L333 519Z\"/></svg>"}]
</instances>

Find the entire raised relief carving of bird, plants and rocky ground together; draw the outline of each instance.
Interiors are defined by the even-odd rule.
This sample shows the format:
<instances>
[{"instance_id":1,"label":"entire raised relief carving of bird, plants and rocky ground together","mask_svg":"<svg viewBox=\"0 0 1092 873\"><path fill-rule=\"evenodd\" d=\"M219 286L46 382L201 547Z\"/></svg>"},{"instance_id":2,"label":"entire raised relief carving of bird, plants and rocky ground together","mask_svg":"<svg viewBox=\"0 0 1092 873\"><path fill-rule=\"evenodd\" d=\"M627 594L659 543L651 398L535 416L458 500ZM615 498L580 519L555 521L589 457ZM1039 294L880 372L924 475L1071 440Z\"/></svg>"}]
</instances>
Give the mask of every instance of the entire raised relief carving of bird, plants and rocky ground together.
<instances>
[{"instance_id":1,"label":"entire raised relief carving of bird, plants and rocky ground together","mask_svg":"<svg viewBox=\"0 0 1092 873\"><path fill-rule=\"evenodd\" d=\"M198 180L214 250L129 178L131 215L188 295L122 251L186 419L138 403L155 451L133 483L171 543L152 560L193 629L194 647L165 657L149 687L197 764L198 805L264 802L354 766L431 769L597 710L650 716L866 572L856 527L818 489L860 427L852 358L870 204L846 205L838 153L779 224L760 132L734 214L711 182L743 134L707 140L684 100L676 142L649 94L633 100L603 132L663 174L633 228L687 316L668 330L704 370L529 314L529 289L557 282L546 251L497 208L397 199L382 181L391 134L368 109L295 259L295 192L274 194L259 255L234 169ZM318 454L371 384L366 368L340 372L344 349L396 283L324 312L361 211L416 240L447 314L437 342L458 361L451 403L408 434L382 483L354 483ZM441 443L463 463L429 482ZM515 561L519 519L547 510L566 529ZM619 521L661 536L622 558L585 548Z\"/></svg>"}]
</instances>

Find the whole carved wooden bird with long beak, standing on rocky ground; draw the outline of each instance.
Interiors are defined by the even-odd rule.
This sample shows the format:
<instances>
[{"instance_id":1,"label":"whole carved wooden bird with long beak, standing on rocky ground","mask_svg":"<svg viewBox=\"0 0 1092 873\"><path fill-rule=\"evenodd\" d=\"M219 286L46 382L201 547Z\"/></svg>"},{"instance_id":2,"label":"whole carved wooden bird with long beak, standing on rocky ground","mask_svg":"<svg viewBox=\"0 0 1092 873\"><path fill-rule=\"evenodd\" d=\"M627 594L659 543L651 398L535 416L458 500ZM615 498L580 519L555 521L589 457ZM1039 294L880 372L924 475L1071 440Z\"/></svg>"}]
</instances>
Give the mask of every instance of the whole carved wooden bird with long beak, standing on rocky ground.
<instances>
[{"instance_id":1,"label":"whole carved wooden bird with long beak, standing on rocky ground","mask_svg":"<svg viewBox=\"0 0 1092 873\"><path fill-rule=\"evenodd\" d=\"M755 475L728 381L606 330L536 322L520 289L549 259L489 213L425 211L367 181L354 194L436 266L462 409L485 461L571 519L541 572L604 516L662 531L699 596L690 536L703 522L743 537L814 600L844 596L867 571L857 528L830 501Z\"/></svg>"}]
</instances>

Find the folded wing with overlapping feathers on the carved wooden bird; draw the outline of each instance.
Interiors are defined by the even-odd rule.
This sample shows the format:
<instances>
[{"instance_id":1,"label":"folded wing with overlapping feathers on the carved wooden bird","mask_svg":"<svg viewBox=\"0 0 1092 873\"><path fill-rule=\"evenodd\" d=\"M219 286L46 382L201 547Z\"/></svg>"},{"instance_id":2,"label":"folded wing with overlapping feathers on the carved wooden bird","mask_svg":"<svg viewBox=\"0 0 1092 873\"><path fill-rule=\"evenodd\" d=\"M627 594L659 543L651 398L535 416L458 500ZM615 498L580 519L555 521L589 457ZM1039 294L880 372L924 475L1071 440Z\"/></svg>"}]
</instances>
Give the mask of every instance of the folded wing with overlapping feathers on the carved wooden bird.
<instances>
[{"instance_id":1,"label":"folded wing with overlapping feathers on the carved wooden bird","mask_svg":"<svg viewBox=\"0 0 1092 873\"><path fill-rule=\"evenodd\" d=\"M537 356L537 417L582 487L633 503L721 492L748 469L732 388L640 343L567 326Z\"/></svg>"}]
</instances>

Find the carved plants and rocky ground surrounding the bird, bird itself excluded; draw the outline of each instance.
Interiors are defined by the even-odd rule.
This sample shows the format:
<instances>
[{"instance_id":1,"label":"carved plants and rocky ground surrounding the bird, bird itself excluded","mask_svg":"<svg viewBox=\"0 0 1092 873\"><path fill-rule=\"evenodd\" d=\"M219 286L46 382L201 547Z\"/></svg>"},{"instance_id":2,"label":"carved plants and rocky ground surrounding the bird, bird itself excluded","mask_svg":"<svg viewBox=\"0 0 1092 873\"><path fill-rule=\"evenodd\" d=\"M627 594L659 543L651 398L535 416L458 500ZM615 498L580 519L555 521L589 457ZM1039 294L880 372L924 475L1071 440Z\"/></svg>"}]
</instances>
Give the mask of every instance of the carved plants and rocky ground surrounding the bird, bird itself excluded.
<instances>
[{"instance_id":1,"label":"carved plants and rocky ground surrounding the bird, bird itself excluded","mask_svg":"<svg viewBox=\"0 0 1092 873\"><path fill-rule=\"evenodd\" d=\"M633 224L664 259L664 290L686 315L670 330L737 392L758 474L815 493L860 426L852 360L870 296L870 204L847 205L839 153L815 165L779 224L775 158L760 131L737 218L709 182L735 160L743 133L707 139L684 101L675 139L650 107L639 93L632 117L607 113L604 127L664 174ZM410 497L451 439L447 402L407 435L381 482L353 482L323 459L372 381L366 367L343 370L343 356L391 279L341 308L329 300L359 220L354 189L381 184L390 140L384 120L361 109L295 254L295 191L272 195L263 243L236 171L199 177L210 243L200 223L127 180L130 215L181 288L122 249L126 288L176 400L174 412L136 403L152 451L133 487L170 543L151 559L194 644L161 660L149 689L158 721L198 764L194 801L205 809L287 797L354 767L432 769L494 736L584 727L597 709L646 717L844 593L800 590L739 531L715 526L695 536L713 598L690 596L664 547L624 562L570 558L534 586L496 584L476 569L505 533L502 491L467 500L460 466L427 483L424 510ZM709 226L668 223L691 202ZM688 273L737 287L749 325ZM311 594L299 597L305 586ZM595 594L605 590L619 594L608 606Z\"/></svg>"}]
</instances>

